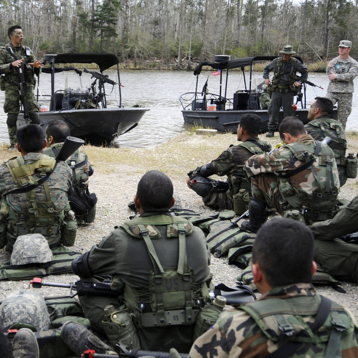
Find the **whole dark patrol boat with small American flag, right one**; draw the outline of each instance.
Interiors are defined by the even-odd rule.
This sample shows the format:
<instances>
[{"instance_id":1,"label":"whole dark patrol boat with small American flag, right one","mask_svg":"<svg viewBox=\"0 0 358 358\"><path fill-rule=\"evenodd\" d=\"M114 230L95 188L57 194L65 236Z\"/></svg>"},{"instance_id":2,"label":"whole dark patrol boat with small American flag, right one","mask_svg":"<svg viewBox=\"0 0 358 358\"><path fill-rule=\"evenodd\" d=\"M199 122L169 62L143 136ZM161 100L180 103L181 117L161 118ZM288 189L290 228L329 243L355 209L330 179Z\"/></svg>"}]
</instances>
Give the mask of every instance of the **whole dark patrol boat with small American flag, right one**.
<instances>
[{"instance_id":1,"label":"whole dark patrol boat with small American flag, right one","mask_svg":"<svg viewBox=\"0 0 358 358\"><path fill-rule=\"evenodd\" d=\"M303 63L300 57L294 57ZM216 55L214 62L204 61L200 63L194 70L194 76L197 76L195 92L184 93L179 98L183 107L182 113L184 121L193 125L213 128L221 132L236 132L237 126L240 123L240 117L246 113L255 113L260 116L262 120L261 132L266 132L269 124L269 114L267 113L267 107L262 108L260 103L260 96L264 93L263 86L265 82L263 81L254 87L252 64L258 61L272 61L275 58L277 58L277 56L255 56L232 60L231 57L227 55ZM208 79L204 83L202 90L198 90L199 74L202 72L203 66L216 69L217 74L220 75L218 93L210 93L208 91ZM245 77L245 67L250 67L248 83ZM241 69L245 89L236 91L233 93L233 97L231 97L231 94L227 93L228 75L229 70L234 68ZM223 72L226 72L226 76ZM294 107L294 115L303 123L307 122L306 86L308 84L310 86L319 87L309 81L303 83L301 91L296 96L296 101L294 101L297 107L296 110ZM337 107L334 108L333 118L337 119ZM283 119L284 112L281 109L278 117L279 124Z\"/></svg>"}]
</instances>

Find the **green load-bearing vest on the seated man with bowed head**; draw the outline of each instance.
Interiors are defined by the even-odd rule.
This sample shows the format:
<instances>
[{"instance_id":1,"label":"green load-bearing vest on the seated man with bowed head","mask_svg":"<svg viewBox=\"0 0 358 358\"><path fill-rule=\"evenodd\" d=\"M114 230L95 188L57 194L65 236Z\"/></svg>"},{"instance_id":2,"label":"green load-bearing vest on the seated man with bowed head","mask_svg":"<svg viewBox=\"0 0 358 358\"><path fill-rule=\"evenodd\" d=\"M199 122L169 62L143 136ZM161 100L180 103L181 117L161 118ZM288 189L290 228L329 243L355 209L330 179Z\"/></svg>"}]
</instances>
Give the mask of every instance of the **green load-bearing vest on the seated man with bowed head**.
<instances>
[{"instance_id":1,"label":"green load-bearing vest on the seated man with bowed head","mask_svg":"<svg viewBox=\"0 0 358 358\"><path fill-rule=\"evenodd\" d=\"M290 149L296 159L304 161L305 163L308 163L310 160L319 160L319 165L326 167L326 175L324 175L326 180L325 187L320 188L319 185L322 180L318 177L314 165L311 164L307 169L312 171L318 188L314 189L312 194L307 194L302 189L294 187L291 178L285 178L285 174L283 174L279 177L282 197L292 208L301 211L306 223L324 221L332 218L337 210L338 188L334 184L332 160L327 159L324 161L321 159L324 155L332 155L331 149L328 146L322 145L317 154L317 158L315 158L313 153L315 152L316 144L301 144L300 142L295 142L290 145L285 145L285 147ZM296 170L299 169L297 168Z\"/></svg>"}]
</instances>

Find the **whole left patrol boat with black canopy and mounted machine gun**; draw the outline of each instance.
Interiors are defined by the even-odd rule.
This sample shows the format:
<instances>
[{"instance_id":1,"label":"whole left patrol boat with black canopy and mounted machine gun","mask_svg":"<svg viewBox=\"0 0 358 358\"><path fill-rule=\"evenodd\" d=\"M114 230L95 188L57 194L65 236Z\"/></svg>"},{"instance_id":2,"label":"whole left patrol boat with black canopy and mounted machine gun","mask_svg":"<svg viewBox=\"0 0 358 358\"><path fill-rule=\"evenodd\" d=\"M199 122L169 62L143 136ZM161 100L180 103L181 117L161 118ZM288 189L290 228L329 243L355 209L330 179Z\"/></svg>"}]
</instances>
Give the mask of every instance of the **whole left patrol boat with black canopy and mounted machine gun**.
<instances>
[{"instance_id":1,"label":"whole left patrol boat with black canopy and mounted machine gun","mask_svg":"<svg viewBox=\"0 0 358 358\"><path fill-rule=\"evenodd\" d=\"M83 70L71 66L71 64L95 63L99 72L90 71L84 66ZM42 108L39 113L40 125L45 130L47 123L52 119L63 120L71 129L71 136L83 139L92 145L116 146L115 140L120 135L135 128L142 116L149 108L125 107L122 105L121 82L119 61L116 55L111 53L62 53L48 54L43 57L43 64L39 76L41 83L49 81L51 93L42 94L37 90L37 100ZM67 67L63 65L67 65ZM70 66L68 66L70 65ZM110 79L102 72L112 66L117 67L115 79ZM56 89L59 83L58 73L70 71L76 74L80 86L68 86L66 78L62 89ZM44 79L43 79L44 77ZM71 76L73 77L73 76ZM87 78L86 78L87 77ZM40 81L39 81L40 83ZM83 86L82 86L83 83ZM118 86L117 106L107 107L106 90L114 91ZM40 93L39 93L40 92ZM20 113L18 126L25 125L23 113Z\"/></svg>"}]
</instances>

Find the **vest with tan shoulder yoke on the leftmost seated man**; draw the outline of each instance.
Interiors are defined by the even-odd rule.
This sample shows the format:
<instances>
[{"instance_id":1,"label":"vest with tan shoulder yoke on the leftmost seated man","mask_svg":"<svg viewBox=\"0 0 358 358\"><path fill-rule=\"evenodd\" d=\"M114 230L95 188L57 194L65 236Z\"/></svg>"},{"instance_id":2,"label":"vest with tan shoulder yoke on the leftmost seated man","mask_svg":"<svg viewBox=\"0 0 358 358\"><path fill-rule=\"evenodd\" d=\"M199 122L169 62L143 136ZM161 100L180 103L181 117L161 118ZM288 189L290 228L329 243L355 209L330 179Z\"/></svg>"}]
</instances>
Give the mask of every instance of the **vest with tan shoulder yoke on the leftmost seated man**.
<instances>
[{"instance_id":1,"label":"vest with tan shoulder yoke on the leftmost seated man","mask_svg":"<svg viewBox=\"0 0 358 358\"><path fill-rule=\"evenodd\" d=\"M56 161L49 158L47 155L42 155L41 158L33 163L25 164L22 157L10 159L6 165L10 171L14 182L19 188L37 185L41 179L35 179L32 175L35 171L39 172L41 176L47 173L52 173ZM0 214L6 222L6 238L11 249L16 241L16 238L21 235L29 233L40 233L45 236L50 246L59 245L61 242L61 224L64 218L64 212L69 210L69 204L62 211L56 211L52 202L50 191L47 182L42 183L46 202L39 202L36 200L35 189L25 192L28 202L26 204L26 211L15 212L6 201L6 197L11 192L5 194L1 201ZM15 189L19 190L19 189ZM13 190L14 192L14 190ZM67 210L66 210L67 209ZM17 224L23 221L22 224Z\"/></svg>"}]
</instances>

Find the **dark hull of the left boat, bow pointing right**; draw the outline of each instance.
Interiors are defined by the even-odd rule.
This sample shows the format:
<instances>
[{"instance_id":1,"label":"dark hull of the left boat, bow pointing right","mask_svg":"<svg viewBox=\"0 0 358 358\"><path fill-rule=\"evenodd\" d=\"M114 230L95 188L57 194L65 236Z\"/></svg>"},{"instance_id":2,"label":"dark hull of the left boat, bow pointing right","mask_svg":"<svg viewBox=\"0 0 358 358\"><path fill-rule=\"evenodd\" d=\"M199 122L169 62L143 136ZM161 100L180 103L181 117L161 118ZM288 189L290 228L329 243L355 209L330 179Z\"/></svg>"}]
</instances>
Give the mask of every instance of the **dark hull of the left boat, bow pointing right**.
<instances>
[{"instance_id":1,"label":"dark hull of the left boat, bow pointing right","mask_svg":"<svg viewBox=\"0 0 358 358\"><path fill-rule=\"evenodd\" d=\"M100 108L71 111L40 112L40 126L45 128L50 120L66 122L71 136L83 139L92 145L111 146L114 139L136 127L149 108ZM23 113L17 121L18 127L25 125Z\"/></svg>"}]
</instances>

